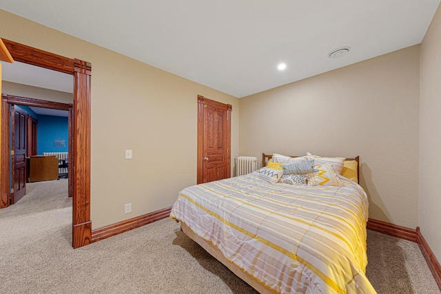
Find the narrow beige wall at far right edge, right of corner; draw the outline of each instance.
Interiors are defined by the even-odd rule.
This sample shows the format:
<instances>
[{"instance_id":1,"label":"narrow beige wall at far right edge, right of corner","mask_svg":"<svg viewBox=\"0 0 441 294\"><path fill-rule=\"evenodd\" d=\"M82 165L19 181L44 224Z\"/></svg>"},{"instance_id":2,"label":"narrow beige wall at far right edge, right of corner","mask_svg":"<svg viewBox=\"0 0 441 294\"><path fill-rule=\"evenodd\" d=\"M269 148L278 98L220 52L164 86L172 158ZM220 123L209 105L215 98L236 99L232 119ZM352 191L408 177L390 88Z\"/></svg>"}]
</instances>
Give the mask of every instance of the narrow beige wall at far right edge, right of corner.
<instances>
[{"instance_id":1,"label":"narrow beige wall at far right edge, right of corner","mask_svg":"<svg viewBox=\"0 0 441 294\"><path fill-rule=\"evenodd\" d=\"M441 8L421 44L420 229L441 261Z\"/></svg>"}]
</instances>

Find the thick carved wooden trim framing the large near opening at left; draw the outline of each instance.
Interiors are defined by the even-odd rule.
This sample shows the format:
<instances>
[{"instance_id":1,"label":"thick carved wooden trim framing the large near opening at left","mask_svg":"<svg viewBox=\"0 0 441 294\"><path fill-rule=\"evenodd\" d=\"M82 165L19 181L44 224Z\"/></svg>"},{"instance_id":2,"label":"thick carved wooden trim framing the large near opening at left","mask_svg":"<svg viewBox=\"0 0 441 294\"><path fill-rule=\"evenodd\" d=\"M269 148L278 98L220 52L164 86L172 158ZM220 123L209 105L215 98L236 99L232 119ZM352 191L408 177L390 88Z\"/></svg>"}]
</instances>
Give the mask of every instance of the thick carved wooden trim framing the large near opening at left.
<instances>
[{"instance_id":1,"label":"thick carved wooden trim framing the large near opening at left","mask_svg":"<svg viewBox=\"0 0 441 294\"><path fill-rule=\"evenodd\" d=\"M92 222L90 221L90 80L91 64L79 59L45 52L27 45L3 39L3 43L15 61L45 67L57 72L72 74L74 103L72 111L72 246L78 248L90 244ZM5 114L6 101L2 100L0 113ZM4 132L2 127L1 132ZM3 133L2 133L3 134ZM3 137L4 138L4 137ZM0 164L8 162L8 146L1 143ZM0 195L8 194L9 173L1 164Z\"/></svg>"}]
</instances>

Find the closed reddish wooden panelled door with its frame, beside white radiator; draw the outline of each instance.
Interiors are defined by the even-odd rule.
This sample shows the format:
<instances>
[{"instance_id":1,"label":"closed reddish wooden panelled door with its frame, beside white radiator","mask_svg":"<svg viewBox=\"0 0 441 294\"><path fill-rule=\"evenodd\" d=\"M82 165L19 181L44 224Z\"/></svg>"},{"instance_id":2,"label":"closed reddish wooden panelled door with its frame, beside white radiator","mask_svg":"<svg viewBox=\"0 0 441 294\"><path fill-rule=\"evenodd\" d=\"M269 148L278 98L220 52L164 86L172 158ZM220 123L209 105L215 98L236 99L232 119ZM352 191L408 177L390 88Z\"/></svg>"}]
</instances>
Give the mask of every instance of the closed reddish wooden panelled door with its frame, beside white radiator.
<instances>
[{"instance_id":1,"label":"closed reddish wooden panelled door with its frame, beside white radiator","mask_svg":"<svg viewBox=\"0 0 441 294\"><path fill-rule=\"evenodd\" d=\"M198 96L198 184L229 178L232 105Z\"/></svg>"}]
</instances>

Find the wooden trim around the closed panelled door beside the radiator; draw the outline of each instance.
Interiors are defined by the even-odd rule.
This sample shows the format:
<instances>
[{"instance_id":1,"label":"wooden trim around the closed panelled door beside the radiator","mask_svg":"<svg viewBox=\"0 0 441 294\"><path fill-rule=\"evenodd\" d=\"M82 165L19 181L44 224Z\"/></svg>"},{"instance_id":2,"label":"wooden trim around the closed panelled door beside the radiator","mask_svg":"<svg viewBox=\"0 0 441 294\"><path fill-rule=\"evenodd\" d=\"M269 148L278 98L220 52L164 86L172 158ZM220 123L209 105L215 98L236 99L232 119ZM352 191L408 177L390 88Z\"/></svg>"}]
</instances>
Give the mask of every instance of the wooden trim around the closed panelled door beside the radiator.
<instances>
[{"instance_id":1,"label":"wooden trim around the closed panelled door beside the radiator","mask_svg":"<svg viewBox=\"0 0 441 294\"><path fill-rule=\"evenodd\" d=\"M198 160L197 161L197 183L203 182L203 132L204 132L204 105L216 107L227 111L227 178L231 176L231 122L232 122L232 105L220 103L218 101L205 98L198 95Z\"/></svg>"}]
</instances>

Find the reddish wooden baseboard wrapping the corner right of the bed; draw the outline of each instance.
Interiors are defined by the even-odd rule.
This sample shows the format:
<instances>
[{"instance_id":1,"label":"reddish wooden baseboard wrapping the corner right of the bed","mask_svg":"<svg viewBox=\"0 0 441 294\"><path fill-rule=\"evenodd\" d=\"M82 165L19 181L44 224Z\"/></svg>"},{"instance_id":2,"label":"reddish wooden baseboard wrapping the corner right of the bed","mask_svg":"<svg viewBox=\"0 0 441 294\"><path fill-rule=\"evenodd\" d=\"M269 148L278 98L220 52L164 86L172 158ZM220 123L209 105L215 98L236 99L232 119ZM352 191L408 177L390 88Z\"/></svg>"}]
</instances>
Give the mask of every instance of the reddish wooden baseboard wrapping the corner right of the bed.
<instances>
[{"instance_id":1,"label":"reddish wooden baseboard wrapping the corner right of the bed","mask_svg":"<svg viewBox=\"0 0 441 294\"><path fill-rule=\"evenodd\" d=\"M369 220L367 221L366 229L371 231L378 231L380 233L391 235L393 237L416 242L420 247L421 253L424 256L424 259L426 260L433 277L435 278L436 284L438 284L438 287L441 290L440 262L438 262L438 260L436 259L433 251L429 247L429 244L427 244L426 240L424 240L424 237L422 236L419 227L414 230L406 227L400 227L396 224L389 224L389 222L382 222L381 220L373 220L369 218Z\"/></svg>"}]
</instances>

